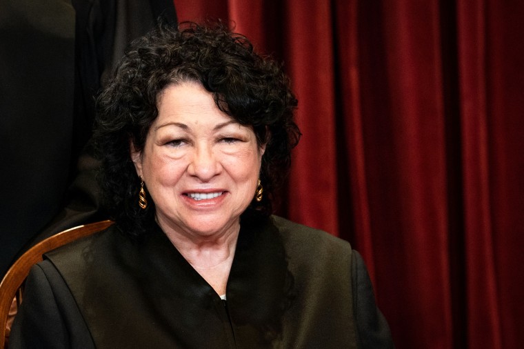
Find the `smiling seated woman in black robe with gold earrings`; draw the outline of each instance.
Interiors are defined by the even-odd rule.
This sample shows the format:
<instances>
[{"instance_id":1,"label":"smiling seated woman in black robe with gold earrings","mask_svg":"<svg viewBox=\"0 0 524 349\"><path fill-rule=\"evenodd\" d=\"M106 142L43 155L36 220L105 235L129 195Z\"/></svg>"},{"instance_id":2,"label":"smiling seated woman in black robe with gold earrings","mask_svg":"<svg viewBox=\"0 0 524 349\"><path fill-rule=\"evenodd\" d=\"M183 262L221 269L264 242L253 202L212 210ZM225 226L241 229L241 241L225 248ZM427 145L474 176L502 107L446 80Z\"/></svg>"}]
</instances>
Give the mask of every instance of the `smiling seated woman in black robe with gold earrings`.
<instances>
[{"instance_id":1,"label":"smiling seated woman in black robe with gold earrings","mask_svg":"<svg viewBox=\"0 0 524 349\"><path fill-rule=\"evenodd\" d=\"M296 103L220 25L135 41L98 99L116 223L33 268L12 348L390 348L349 243L270 215Z\"/></svg>"}]
</instances>

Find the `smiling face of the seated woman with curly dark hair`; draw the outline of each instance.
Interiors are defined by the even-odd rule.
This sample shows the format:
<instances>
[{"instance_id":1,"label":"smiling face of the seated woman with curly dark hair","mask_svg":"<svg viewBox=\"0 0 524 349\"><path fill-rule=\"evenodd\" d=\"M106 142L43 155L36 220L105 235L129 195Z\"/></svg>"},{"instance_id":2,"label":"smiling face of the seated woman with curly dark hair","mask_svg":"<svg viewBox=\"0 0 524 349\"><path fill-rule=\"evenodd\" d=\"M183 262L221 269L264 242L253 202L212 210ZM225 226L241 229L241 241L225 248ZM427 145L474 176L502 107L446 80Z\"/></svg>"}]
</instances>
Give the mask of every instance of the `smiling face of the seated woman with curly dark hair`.
<instances>
[{"instance_id":1,"label":"smiling face of the seated woman with curly dark hair","mask_svg":"<svg viewBox=\"0 0 524 349\"><path fill-rule=\"evenodd\" d=\"M205 238L238 230L254 197L264 148L252 128L215 105L199 83L165 88L137 173L167 233Z\"/></svg>"}]
</instances>

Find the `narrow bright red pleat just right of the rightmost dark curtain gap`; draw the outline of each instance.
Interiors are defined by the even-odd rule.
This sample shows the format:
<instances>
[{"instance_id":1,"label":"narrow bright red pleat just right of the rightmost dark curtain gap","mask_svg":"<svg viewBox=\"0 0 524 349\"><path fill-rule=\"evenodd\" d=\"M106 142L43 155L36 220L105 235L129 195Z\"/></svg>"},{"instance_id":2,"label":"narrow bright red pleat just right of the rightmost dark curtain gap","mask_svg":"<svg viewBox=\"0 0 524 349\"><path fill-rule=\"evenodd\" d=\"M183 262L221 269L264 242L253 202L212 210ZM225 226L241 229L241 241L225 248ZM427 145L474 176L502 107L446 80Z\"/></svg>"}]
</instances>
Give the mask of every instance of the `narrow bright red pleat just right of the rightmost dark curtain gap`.
<instances>
[{"instance_id":1,"label":"narrow bright red pleat just right of the rightmost dark curtain gap","mask_svg":"<svg viewBox=\"0 0 524 349\"><path fill-rule=\"evenodd\" d=\"M469 5L469 6L468 6ZM461 7L462 6L462 7ZM466 14L467 11L467 14ZM467 337L472 346L501 348L492 251L484 1L458 8L463 129ZM481 287L479 287L481 286ZM482 306L480 306L482 305Z\"/></svg>"}]
</instances>

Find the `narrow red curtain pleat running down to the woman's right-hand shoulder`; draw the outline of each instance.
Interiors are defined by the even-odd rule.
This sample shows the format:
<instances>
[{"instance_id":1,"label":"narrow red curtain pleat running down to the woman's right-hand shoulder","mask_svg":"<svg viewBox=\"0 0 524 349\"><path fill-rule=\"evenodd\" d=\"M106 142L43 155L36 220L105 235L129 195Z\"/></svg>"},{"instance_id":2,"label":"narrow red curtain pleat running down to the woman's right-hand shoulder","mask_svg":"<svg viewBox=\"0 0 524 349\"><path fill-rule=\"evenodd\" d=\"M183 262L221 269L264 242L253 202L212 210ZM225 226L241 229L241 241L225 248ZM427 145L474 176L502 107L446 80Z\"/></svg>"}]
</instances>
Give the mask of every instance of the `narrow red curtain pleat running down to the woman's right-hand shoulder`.
<instances>
[{"instance_id":1,"label":"narrow red curtain pleat running down to the woman's right-hand shoulder","mask_svg":"<svg viewBox=\"0 0 524 349\"><path fill-rule=\"evenodd\" d=\"M347 240L358 241L367 269L375 280L374 245L367 192L366 154L361 112L361 73L359 63L359 26L356 1L337 0L334 6L336 38L336 125L339 164L339 232ZM343 156L341 156L343 154ZM352 154L350 157L349 154ZM354 231L350 227L354 226ZM354 235L354 236L353 236Z\"/></svg>"}]
</instances>

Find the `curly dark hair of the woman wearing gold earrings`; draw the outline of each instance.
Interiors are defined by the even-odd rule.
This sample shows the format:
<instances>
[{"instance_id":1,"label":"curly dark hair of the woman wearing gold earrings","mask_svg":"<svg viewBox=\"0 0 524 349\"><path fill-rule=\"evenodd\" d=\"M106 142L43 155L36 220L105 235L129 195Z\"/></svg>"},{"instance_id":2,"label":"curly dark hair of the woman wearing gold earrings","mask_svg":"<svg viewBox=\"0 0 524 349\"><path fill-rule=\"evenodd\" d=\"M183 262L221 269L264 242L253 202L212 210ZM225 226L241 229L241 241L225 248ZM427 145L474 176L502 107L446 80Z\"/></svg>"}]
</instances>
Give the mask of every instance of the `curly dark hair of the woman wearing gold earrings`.
<instances>
[{"instance_id":1,"label":"curly dark hair of the woman wearing gold earrings","mask_svg":"<svg viewBox=\"0 0 524 349\"><path fill-rule=\"evenodd\" d=\"M299 142L293 121L297 100L281 66L263 57L241 34L221 22L161 24L125 50L112 80L97 98L94 145L101 159L99 182L105 206L121 230L141 235L154 222L154 203L138 205L140 180L130 157L130 142L143 150L157 118L163 90L196 81L212 93L216 106L244 126L252 126L265 145L260 179L261 202L250 215L272 213L274 193L290 167L290 152ZM246 215L246 212L244 213Z\"/></svg>"}]
</instances>

